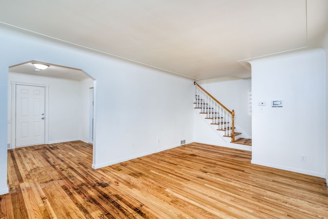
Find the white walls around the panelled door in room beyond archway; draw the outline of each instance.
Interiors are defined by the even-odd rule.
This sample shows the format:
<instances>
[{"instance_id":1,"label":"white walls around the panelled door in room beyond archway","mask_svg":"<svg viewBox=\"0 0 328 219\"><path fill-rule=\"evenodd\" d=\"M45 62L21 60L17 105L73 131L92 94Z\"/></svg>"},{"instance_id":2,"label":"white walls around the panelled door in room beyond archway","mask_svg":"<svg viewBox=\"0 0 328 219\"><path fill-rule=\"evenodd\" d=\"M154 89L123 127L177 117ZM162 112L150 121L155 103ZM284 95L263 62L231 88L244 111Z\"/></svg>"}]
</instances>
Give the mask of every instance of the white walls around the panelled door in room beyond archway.
<instances>
[{"instance_id":1,"label":"white walls around the panelled door in room beyond archway","mask_svg":"<svg viewBox=\"0 0 328 219\"><path fill-rule=\"evenodd\" d=\"M88 142L89 137L81 137L82 130L89 130L89 103L87 102L87 105L83 103L84 99L89 98L88 87L83 87L80 82L68 79L10 72L8 120L11 120L11 81L49 85L49 96L47 97L49 114L46 115L49 123L49 144L74 140ZM82 85L84 84L88 85L88 83ZM11 124L8 124L8 143L11 143L10 134Z\"/></svg>"}]
</instances>

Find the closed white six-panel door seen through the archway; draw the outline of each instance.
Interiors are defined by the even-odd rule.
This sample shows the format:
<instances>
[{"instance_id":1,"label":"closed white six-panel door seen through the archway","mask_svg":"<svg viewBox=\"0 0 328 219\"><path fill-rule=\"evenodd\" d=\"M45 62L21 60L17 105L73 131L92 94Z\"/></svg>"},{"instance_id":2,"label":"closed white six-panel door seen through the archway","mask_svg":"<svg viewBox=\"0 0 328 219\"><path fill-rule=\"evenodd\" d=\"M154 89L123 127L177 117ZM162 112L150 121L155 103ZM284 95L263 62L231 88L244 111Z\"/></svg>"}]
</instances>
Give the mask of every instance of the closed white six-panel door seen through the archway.
<instances>
[{"instance_id":1,"label":"closed white six-panel door seen through the archway","mask_svg":"<svg viewBox=\"0 0 328 219\"><path fill-rule=\"evenodd\" d=\"M45 87L16 85L16 147L45 143Z\"/></svg>"}]
</instances>

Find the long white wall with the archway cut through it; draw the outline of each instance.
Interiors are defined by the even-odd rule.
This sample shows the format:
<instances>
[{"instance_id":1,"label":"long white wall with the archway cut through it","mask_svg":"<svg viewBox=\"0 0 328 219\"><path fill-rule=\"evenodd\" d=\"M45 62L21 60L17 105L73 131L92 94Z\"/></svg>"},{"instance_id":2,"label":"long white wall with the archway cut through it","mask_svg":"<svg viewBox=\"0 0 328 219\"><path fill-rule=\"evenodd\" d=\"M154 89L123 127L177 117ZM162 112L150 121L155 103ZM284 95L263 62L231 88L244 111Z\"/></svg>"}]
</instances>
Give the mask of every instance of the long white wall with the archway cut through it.
<instances>
[{"instance_id":1,"label":"long white wall with the archway cut through it","mask_svg":"<svg viewBox=\"0 0 328 219\"><path fill-rule=\"evenodd\" d=\"M83 69L96 79L93 167L193 140L191 79L0 24L0 192L7 187L8 67L36 60ZM158 142L159 140L159 142Z\"/></svg>"}]
</instances>

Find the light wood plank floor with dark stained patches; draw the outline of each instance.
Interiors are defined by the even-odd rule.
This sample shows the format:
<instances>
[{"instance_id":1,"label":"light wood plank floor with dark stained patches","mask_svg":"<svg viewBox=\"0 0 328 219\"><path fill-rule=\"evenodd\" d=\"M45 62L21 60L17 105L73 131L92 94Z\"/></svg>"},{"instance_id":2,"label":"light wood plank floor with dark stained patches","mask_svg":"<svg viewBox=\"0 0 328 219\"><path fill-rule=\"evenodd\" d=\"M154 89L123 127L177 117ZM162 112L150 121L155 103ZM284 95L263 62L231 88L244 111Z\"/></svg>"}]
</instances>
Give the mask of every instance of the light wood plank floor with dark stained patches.
<instances>
[{"instance_id":1,"label":"light wood plank floor with dark stained patches","mask_svg":"<svg viewBox=\"0 0 328 219\"><path fill-rule=\"evenodd\" d=\"M328 218L323 178L189 144L93 170L82 142L8 151L0 218Z\"/></svg>"}]
</instances>

